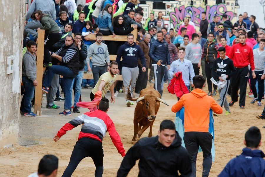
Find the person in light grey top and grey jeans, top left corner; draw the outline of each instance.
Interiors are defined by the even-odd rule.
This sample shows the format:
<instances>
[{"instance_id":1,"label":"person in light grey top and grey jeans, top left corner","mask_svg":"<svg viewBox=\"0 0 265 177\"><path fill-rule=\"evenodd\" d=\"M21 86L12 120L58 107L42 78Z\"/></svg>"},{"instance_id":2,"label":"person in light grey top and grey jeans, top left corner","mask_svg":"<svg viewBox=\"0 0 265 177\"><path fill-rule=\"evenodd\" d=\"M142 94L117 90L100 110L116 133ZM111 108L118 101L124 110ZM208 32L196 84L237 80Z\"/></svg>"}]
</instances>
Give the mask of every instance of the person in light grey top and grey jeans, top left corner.
<instances>
[{"instance_id":1,"label":"person in light grey top and grey jeans, top left corner","mask_svg":"<svg viewBox=\"0 0 265 177\"><path fill-rule=\"evenodd\" d=\"M35 21L30 19L32 13L36 10L41 10L44 14L48 14L55 21L56 19L56 11L55 4L52 0L34 0L29 6L29 10L26 15L26 19L24 21L24 30L34 37L38 36L38 33L34 30L41 27L41 23L39 21Z\"/></svg>"}]
</instances>

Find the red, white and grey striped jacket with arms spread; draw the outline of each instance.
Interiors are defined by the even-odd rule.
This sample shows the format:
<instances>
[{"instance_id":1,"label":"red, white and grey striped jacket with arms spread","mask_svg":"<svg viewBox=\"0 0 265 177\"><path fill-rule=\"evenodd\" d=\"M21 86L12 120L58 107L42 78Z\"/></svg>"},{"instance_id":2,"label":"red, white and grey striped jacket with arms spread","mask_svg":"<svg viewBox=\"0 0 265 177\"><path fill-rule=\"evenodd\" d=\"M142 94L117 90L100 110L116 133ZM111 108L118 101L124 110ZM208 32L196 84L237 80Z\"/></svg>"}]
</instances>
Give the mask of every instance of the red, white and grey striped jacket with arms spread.
<instances>
[{"instance_id":1,"label":"red, white and grey striped jacket with arms spread","mask_svg":"<svg viewBox=\"0 0 265 177\"><path fill-rule=\"evenodd\" d=\"M62 137L68 130L83 124L81 132L79 133L78 140L82 137L88 137L102 142L106 132L109 132L110 138L117 148L118 152L125 156L125 150L120 140L120 135L117 133L114 123L110 117L103 111L97 110L93 112L86 112L70 122L66 123L57 133L58 137Z\"/></svg>"}]
</instances>

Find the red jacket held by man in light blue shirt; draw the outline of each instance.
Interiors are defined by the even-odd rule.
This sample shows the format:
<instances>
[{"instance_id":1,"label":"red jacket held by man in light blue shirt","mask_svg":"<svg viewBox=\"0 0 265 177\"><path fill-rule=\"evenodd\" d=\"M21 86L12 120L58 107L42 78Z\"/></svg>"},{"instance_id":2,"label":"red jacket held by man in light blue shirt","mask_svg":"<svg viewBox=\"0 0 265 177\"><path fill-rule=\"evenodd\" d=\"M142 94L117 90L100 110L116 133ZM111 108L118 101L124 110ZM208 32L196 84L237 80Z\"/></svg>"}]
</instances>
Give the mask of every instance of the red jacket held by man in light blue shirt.
<instances>
[{"instance_id":1,"label":"red jacket held by man in light blue shirt","mask_svg":"<svg viewBox=\"0 0 265 177\"><path fill-rule=\"evenodd\" d=\"M189 91L182 79L182 73L177 72L175 75L177 77L173 77L168 85L168 92L180 98L182 95L189 93Z\"/></svg>"}]
</instances>

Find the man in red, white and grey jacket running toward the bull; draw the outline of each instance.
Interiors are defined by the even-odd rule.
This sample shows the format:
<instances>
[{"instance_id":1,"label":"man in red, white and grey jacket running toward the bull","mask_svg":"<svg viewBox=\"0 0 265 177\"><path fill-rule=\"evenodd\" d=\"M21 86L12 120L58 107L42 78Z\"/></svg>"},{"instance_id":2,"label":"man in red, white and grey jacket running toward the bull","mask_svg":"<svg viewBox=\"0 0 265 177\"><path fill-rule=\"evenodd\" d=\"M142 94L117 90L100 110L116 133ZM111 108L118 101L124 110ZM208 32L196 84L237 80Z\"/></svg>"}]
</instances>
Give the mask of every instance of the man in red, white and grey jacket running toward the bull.
<instances>
[{"instance_id":1,"label":"man in red, white and grey jacket running toward the bull","mask_svg":"<svg viewBox=\"0 0 265 177\"><path fill-rule=\"evenodd\" d=\"M103 174L103 149L102 140L106 132L109 132L110 138L117 148L118 152L125 156L125 150L120 140L120 135L117 133L114 123L107 115L109 109L109 100L102 98L99 103L99 110L93 112L86 112L70 122L66 123L56 135L53 140L56 142L68 130L72 130L80 124L82 125L81 132L78 136L78 141L74 146L74 150L70 157L70 162L63 173L63 177L71 176L77 165L83 158L91 157L96 166L95 176L102 176Z\"/></svg>"}]
</instances>

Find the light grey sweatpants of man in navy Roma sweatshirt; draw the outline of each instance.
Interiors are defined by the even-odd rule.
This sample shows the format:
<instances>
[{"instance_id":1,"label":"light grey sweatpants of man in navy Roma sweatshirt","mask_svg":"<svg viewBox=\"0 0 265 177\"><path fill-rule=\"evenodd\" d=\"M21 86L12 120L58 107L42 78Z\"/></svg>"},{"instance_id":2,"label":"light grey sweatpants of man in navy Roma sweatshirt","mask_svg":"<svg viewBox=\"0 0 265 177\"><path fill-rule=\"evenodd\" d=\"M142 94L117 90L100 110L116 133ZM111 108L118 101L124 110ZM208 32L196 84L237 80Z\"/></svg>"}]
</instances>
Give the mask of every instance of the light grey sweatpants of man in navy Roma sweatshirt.
<instances>
[{"instance_id":1,"label":"light grey sweatpants of man in navy Roma sweatshirt","mask_svg":"<svg viewBox=\"0 0 265 177\"><path fill-rule=\"evenodd\" d=\"M138 75L139 75L138 66L136 66L135 68L128 68L125 66L122 67L122 80L123 80L123 85L124 85L124 90L125 90L126 95L128 92L128 87L130 85L130 82L132 81L131 86L130 86L130 91L133 97L133 90L135 88Z\"/></svg>"}]
</instances>

